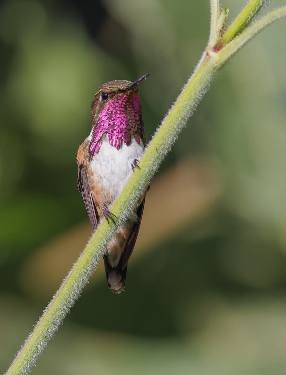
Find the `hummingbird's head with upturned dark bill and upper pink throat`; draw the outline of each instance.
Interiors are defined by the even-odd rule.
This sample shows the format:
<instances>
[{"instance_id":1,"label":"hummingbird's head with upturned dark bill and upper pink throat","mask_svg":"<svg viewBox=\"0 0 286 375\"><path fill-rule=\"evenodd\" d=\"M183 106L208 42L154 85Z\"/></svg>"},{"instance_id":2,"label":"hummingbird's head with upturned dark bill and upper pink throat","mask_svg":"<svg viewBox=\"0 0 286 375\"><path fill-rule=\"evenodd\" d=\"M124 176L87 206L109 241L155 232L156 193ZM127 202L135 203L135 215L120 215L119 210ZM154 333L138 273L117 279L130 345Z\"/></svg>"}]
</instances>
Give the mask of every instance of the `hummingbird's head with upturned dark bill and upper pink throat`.
<instances>
[{"instance_id":1,"label":"hummingbird's head with upturned dark bill and upper pink throat","mask_svg":"<svg viewBox=\"0 0 286 375\"><path fill-rule=\"evenodd\" d=\"M91 103L92 127L97 124L103 112L109 117L112 114L114 116L115 113L119 116L121 113L123 118L132 112L141 114L138 86L149 74L145 74L134 82L115 80L100 86Z\"/></svg>"}]
</instances>

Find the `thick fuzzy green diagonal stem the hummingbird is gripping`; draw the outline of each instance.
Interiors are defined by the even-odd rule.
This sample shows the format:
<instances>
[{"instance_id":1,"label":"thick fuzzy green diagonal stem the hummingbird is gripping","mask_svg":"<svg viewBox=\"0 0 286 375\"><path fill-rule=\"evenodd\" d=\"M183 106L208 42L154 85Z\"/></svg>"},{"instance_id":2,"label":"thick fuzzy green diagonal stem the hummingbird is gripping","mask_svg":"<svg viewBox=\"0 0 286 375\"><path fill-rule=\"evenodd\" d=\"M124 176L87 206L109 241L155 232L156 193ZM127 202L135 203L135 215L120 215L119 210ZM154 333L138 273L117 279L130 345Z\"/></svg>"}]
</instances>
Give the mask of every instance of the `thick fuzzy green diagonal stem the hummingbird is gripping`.
<instances>
[{"instance_id":1,"label":"thick fuzzy green diagonal stem the hummingbird is gripping","mask_svg":"<svg viewBox=\"0 0 286 375\"><path fill-rule=\"evenodd\" d=\"M250 1L249 4L253 6L256 4L257 7L258 1ZM238 24L244 25L252 17L253 7L250 8L248 10L249 13L245 11L246 7L244 8L244 11L241 12L244 18ZM104 254L109 240L114 235L118 226L128 217L130 210L135 207L136 202L142 195L142 190L158 170L170 147L174 144L179 133L186 125L187 119L198 107L199 102L208 89L210 81L215 77L219 69L262 28L285 15L286 6L269 13L262 20L235 37L219 52L214 52L212 46L208 46L194 74L190 77L188 83L178 96L177 101L171 110L169 110L162 125L149 143L140 161L140 169L135 169L135 172L131 175L126 186L112 205L111 211L117 216L116 225L112 222L108 225L106 220L100 224L60 289L49 303L33 332L17 354L6 375L24 375L28 374L31 370L31 367L42 353L47 342L52 338L64 320L64 317L79 297L82 289L87 284L97 263ZM234 23L236 22L237 19ZM231 25L229 27L231 31L228 32L226 40L230 41L236 35L238 29L238 26Z\"/></svg>"}]
</instances>

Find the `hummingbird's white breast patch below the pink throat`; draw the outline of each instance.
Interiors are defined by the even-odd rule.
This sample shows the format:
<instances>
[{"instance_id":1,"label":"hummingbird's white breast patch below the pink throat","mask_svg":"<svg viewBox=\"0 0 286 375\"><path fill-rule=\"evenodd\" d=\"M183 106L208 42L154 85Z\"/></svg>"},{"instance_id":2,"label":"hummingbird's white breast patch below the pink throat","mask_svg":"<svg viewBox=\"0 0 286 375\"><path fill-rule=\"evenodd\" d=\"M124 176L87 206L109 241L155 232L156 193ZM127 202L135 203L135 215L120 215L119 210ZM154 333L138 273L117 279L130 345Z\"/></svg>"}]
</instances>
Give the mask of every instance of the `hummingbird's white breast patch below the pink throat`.
<instances>
[{"instance_id":1,"label":"hummingbird's white breast patch below the pink throat","mask_svg":"<svg viewBox=\"0 0 286 375\"><path fill-rule=\"evenodd\" d=\"M140 160L144 145L138 144L132 136L131 144L122 142L119 150L109 144L108 136L103 136L102 145L93 156L90 167L94 180L99 183L110 203L121 192L132 171L134 159Z\"/></svg>"}]
</instances>

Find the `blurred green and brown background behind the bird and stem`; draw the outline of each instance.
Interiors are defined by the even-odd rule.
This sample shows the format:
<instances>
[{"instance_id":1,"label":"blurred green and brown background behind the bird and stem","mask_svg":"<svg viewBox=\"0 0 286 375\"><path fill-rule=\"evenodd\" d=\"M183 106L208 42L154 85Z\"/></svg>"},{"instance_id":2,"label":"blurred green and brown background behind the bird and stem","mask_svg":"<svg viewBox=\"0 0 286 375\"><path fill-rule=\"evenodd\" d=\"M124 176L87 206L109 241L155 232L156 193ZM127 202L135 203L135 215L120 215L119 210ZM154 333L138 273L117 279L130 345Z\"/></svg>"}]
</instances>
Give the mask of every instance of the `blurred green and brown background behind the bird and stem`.
<instances>
[{"instance_id":1,"label":"blurred green and brown background behind the bird and stem","mask_svg":"<svg viewBox=\"0 0 286 375\"><path fill-rule=\"evenodd\" d=\"M75 153L97 87L151 73L149 140L209 23L207 0L1 2L1 372L91 233ZM274 23L211 84L151 184L126 292L99 272L33 374L285 374L285 35Z\"/></svg>"}]
</instances>

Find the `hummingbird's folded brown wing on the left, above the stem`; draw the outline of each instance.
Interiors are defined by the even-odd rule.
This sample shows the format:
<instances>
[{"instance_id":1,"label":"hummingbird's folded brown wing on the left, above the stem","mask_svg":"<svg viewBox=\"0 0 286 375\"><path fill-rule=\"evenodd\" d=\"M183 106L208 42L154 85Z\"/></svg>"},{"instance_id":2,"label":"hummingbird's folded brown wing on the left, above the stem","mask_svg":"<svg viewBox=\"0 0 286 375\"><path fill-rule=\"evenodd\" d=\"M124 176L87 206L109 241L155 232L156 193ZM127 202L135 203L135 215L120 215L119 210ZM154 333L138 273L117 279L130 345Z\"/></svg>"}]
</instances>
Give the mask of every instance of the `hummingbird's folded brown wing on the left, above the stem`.
<instances>
[{"instance_id":1,"label":"hummingbird's folded brown wing on the left, above the stem","mask_svg":"<svg viewBox=\"0 0 286 375\"><path fill-rule=\"evenodd\" d=\"M96 205L94 204L91 191L88 184L87 171L84 164L78 165L78 190L81 192L82 198L84 199L84 204L87 209L87 213L93 226L96 230L99 223L99 216L96 210Z\"/></svg>"}]
</instances>

